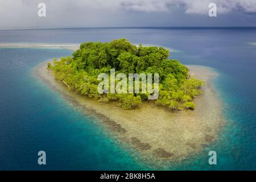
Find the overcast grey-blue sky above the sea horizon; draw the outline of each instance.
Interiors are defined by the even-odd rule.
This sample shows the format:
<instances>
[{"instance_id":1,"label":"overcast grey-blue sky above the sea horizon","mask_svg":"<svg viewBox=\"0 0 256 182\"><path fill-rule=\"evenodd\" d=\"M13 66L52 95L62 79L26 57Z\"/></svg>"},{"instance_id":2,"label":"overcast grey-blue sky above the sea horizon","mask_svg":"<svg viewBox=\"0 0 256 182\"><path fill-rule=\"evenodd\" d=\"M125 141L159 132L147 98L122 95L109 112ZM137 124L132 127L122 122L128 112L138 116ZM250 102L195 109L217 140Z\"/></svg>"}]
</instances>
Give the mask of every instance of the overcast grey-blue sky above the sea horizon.
<instances>
[{"instance_id":1,"label":"overcast grey-blue sky above the sea horizon","mask_svg":"<svg viewBox=\"0 0 256 182\"><path fill-rule=\"evenodd\" d=\"M181 26L256 26L256 0L0 0L0 29Z\"/></svg>"}]
</instances>

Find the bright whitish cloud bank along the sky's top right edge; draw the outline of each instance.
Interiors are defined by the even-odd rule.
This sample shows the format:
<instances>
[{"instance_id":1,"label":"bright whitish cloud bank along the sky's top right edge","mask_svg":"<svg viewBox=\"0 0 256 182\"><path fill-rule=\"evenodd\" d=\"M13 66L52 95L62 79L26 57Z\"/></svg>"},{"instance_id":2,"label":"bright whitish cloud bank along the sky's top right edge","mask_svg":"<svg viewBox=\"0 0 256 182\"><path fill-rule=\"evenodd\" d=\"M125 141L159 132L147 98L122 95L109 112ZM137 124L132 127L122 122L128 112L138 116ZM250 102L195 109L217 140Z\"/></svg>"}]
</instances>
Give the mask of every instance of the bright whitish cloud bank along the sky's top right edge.
<instances>
[{"instance_id":1,"label":"bright whitish cloud bank along the sky's top right edge","mask_svg":"<svg viewBox=\"0 0 256 182\"><path fill-rule=\"evenodd\" d=\"M184 6L185 13L205 14L209 3L216 3L218 13L229 13L241 10L245 13L256 13L255 0L123 0L121 5L126 10L134 11L168 11L171 6Z\"/></svg>"}]
</instances>

